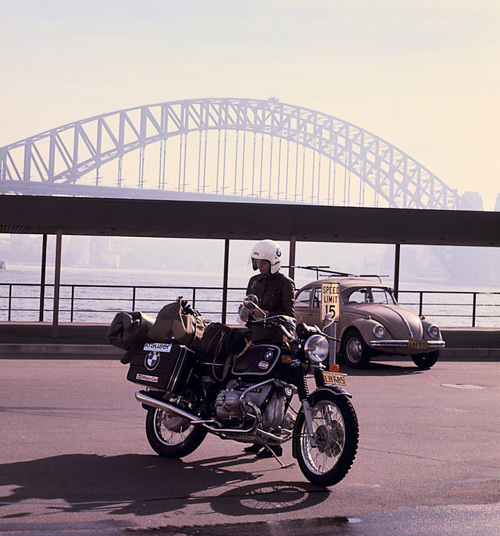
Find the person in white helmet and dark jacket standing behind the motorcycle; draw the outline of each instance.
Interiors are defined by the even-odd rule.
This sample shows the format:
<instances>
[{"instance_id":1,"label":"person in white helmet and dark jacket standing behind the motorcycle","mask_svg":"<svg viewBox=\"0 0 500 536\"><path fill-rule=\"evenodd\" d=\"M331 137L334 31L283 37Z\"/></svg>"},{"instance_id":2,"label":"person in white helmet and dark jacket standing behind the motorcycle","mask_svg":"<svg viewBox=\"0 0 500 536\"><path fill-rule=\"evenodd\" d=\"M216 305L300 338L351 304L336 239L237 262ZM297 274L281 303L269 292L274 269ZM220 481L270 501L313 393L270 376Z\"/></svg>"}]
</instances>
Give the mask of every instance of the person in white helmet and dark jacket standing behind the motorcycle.
<instances>
[{"instance_id":1,"label":"person in white helmet and dark jacket standing behind the motorcycle","mask_svg":"<svg viewBox=\"0 0 500 536\"><path fill-rule=\"evenodd\" d=\"M257 275L250 278L247 295L254 294L258 298L258 306L265 316L286 315L295 316L295 284L290 277L279 270L283 252L281 246L273 240L263 240L251 249L250 261L253 270L259 270ZM251 318L263 318L259 309L250 309ZM269 445L277 456L281 456L281 445ZM263 445L253 444L244 448L246 452L257 453L257 457L271 457L269 450Z\"/></svg>"}]
</instances>

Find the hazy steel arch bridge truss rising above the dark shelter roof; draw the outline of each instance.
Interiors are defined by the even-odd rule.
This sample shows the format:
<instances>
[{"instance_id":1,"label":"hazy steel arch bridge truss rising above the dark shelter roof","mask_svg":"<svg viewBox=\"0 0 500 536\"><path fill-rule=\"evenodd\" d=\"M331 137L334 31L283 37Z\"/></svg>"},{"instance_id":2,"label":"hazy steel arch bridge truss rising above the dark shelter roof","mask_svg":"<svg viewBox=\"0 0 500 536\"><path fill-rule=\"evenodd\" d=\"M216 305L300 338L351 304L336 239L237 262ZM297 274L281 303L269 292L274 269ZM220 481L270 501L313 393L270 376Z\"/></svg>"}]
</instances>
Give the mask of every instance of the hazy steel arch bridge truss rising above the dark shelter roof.
<instances>
[{"instance_id":1,"label":"hazy steel arch bridge truss rising above the dark shelter roof","mask_svg":"<svg viewBox=\"0 0 500 536\"><path fill-rule=\"evenodd\" d=\"M172 138L175 152L167 151ZM114 162L114 186L122 188L124 158L137 151L133 181L146 188L153 144L157 190L412 209L460 205L455 190L394 145L277 99L172 101L66 124L1 147L0 185L21 192L22 184L38 183L49 193L51 185L92 177L93 186L104 186L101 168ZM187 182L194 179L196 185Z\"/></svg>"}]
</instances>

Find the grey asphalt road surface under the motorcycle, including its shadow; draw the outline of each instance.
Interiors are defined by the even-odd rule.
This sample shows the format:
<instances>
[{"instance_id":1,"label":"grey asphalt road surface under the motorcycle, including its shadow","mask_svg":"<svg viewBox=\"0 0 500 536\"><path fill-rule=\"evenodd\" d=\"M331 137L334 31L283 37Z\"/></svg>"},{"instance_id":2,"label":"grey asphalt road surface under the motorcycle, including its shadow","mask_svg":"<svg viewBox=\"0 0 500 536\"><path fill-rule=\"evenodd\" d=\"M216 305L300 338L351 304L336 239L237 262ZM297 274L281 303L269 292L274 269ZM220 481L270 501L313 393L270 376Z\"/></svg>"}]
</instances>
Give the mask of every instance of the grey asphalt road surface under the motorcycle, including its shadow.
<instances>
[{"instance_id":1,"label":"grey asphalt road surface under the motorcycle, including its shadow","mask_svg":"<svg viewBox=\"0 0 500 536\"><path fill-rule=\"evenodd\" d=\"M360 448L328 490L215 437L155 455L117 359L0 367L2 535L500 533L498 362L349 370Z\"/></svg>"}]
</instances>

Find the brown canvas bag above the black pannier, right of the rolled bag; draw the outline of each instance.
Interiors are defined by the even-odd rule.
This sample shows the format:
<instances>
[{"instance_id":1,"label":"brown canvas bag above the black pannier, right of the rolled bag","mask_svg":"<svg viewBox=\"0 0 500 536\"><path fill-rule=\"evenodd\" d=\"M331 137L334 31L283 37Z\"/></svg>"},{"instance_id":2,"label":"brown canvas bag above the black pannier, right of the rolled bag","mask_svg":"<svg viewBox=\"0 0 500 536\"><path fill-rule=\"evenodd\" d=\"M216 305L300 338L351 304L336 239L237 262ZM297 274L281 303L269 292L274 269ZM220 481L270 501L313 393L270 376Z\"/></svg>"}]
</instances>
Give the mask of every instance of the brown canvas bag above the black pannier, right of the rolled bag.
<instances>
[{"instance_id":1,"label":"brown canvas bag above the black pannier, right of the rolled bag","mask_svg":"<svg viewBox=\"0 0 500 536\"><path fill-rule=\"evenodd\" d=\"M175 341L191 346L197 339L201 339L204 330L203 318L179 296L175 302L162 307L149 329L148 337L159 343Z\"/></svg>"}]
</instances>

